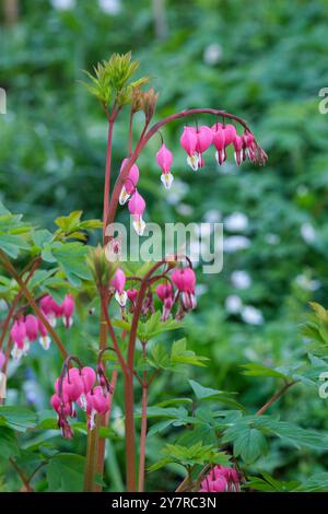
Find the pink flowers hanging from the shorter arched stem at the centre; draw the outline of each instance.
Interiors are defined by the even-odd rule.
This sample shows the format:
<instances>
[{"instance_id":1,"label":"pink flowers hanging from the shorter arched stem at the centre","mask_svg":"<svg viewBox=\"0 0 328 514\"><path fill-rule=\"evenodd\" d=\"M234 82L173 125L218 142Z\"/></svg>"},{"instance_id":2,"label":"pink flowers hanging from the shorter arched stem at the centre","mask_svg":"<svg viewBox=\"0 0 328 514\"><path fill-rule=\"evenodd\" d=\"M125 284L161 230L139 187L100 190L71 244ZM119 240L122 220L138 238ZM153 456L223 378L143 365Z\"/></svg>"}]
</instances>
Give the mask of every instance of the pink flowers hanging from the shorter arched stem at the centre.
<instances>
[{"instance_id":1,"label":"pink flowers hanging from the shorter arched stem at the centre","mask_svg":"<svg viewBox=\"0 0 328 514\"><path fill-rule=\"evenodd\" d=\"M163 303L162 320L165 322L169 317L174 304L179 304L179 308L175 317L180 319L188 311L191 311L196 307L195 272L189 267L176 268L172 272L171 278L165 276L164 279L165 282L160 283L155 288L155 293ZM129 300L130 312L133 312L138 296L138 290L128 289L125 291L126 280L125 272L121 268L118 268L110 283L112 288L114 289L115 299L119 305L124 308L127 304L127 301ZM175 285L176 290L174 290L173 285ZM153 293L150 289L143 301L142 314L147 315L148 313L153 312Z\"/></svg>"}]
</instances>

